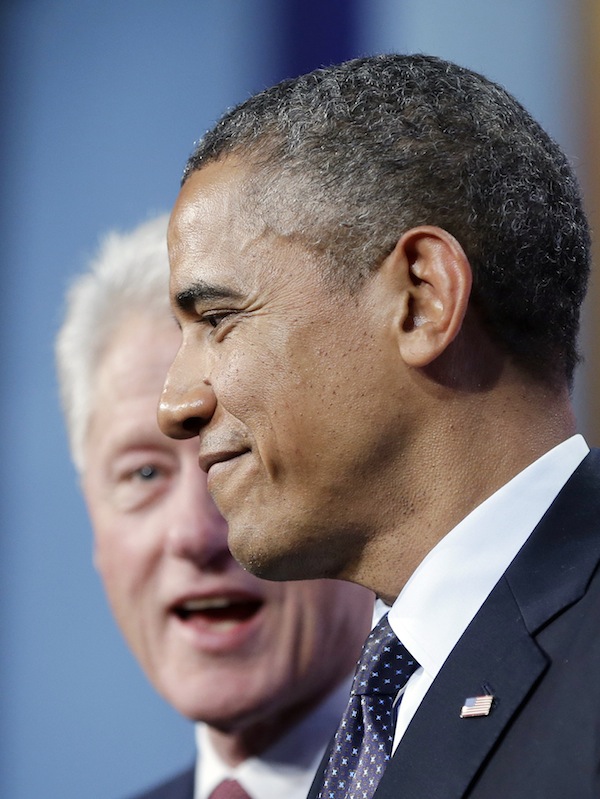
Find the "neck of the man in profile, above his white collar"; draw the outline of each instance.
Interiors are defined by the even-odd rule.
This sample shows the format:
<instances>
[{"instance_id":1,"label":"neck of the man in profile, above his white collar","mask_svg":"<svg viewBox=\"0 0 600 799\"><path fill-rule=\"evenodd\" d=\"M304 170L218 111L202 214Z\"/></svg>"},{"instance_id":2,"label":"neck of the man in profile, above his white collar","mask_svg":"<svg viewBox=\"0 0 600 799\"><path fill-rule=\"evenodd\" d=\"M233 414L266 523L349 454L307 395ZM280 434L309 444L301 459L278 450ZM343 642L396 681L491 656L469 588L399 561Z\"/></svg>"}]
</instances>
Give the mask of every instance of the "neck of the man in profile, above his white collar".
<instances>
[{"instance_id":1,"label":"neck of the man in profile, above his white collar","mask_svg":"<svg viewBox=\"0 0 600 799\"><path fill-rule=\"evenodd\" d=\"M516 372L491 392L449 393L426 405L416 443L396 473L398 503L356 572L345 575L388 604L465 516L575 433L567 389L552 390Z\"/></svg>"}]
</instances>

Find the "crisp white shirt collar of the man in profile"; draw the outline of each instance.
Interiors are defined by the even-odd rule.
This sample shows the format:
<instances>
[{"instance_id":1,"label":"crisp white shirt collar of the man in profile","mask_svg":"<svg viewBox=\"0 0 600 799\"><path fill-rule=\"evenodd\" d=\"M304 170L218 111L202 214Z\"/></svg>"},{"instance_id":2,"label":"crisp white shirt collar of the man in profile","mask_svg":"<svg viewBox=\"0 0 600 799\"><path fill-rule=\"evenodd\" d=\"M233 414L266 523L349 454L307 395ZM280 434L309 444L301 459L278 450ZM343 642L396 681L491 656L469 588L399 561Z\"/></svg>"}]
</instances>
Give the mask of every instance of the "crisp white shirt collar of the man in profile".
<instances>
[{"instance_id":1,"label":"crisp white shirt collar of the man in profile","mask_svg":"<svg viewBox=\"0 0 600 799\"><path fill-rule=\"evenodd\" d=\"M420 668L403 691L394 749L459 638L588 452L577 435L532 463L444 536L402 589L389 622Z\"/></svg>"}]
</instances>

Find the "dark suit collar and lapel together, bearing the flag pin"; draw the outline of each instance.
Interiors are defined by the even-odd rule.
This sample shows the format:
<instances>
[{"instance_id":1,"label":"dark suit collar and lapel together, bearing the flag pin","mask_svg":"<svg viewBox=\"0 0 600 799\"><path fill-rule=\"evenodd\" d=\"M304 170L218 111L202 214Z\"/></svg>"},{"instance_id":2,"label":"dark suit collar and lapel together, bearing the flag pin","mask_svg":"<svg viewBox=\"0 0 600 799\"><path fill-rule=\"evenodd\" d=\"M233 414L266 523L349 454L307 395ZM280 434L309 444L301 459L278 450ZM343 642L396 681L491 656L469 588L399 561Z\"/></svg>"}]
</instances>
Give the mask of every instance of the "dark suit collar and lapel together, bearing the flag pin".
<instances>
[{"instance_id":1,"label":"dark suit collar and lapel together, bearing the flag pin","mask_svg":"<svg viewBox=\"0 0 600 799\"><path fill-rule=\"evenodd\" d=\"M588 456L448 657L376 799L457 799L548 666L535 633L585 592L600 560L600 458ZM460 718L491 693L487 717Z\"/></svg>"}]
</instances>

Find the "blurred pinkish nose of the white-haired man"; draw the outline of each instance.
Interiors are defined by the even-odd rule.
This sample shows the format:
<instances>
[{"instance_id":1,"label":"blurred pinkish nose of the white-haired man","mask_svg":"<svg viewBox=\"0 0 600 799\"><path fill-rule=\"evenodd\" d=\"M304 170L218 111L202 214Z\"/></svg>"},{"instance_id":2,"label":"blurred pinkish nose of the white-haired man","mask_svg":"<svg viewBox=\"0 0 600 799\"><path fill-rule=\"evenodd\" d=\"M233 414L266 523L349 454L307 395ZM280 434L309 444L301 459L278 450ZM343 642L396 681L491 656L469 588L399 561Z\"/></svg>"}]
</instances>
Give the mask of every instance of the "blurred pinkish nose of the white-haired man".
<instances>
[{"instance_id":1,"label":"blurred pinkish nose of the white-haired man","mask_svg":"<svg viewBox=\"0 0 600 799\"><path fill-rule=\"evenodd\" d=\"M203 570L224 568L232 557L227 547L227 523L208 493L206 475L195 457L188 459L173 499L168 553Z\"/></svg>"}]
</instances>

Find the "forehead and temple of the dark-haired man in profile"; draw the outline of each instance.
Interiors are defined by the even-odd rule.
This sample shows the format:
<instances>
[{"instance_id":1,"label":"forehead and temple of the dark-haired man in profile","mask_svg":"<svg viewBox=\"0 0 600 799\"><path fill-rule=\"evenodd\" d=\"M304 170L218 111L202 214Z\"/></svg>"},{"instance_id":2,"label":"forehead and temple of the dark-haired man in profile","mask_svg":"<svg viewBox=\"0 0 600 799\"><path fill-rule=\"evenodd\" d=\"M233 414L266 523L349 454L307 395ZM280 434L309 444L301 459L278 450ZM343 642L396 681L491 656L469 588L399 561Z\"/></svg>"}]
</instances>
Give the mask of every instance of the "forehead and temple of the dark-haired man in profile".
<instances>
[{"instance_id":1,"label":"forehead and temple of the dark-haired man in profile","mask_svg":"<svg viewBox=\"0 0 600 799\"><path fill-rule=\"evenodd\" d=\"M248 182L257 180L252 166L228 157L192 172L182 186L168 231L178 317L197 300L258 302L294 286L306 296L323 289L323 256L301 231L280 229L272 198L250 199Z\"/></svg>"}]
</instances>

